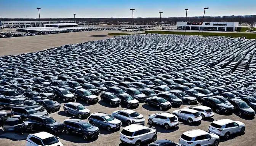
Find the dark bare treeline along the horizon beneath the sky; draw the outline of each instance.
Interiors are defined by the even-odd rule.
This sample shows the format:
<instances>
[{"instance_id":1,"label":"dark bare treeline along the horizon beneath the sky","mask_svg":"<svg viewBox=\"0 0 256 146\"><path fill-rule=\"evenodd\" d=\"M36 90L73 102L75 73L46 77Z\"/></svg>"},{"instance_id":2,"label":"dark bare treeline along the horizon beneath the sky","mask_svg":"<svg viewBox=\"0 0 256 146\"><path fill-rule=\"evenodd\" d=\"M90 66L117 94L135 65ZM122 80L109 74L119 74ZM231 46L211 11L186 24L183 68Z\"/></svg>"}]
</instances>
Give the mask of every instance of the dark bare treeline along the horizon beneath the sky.
<instances>
[{"instance_id":1,"label":"dark bare treeline along the horizon beneath the sky","mask_svg":"<svg viewBox=\"0 0 256 146\"><path fill-rule=\"evenodd\" d=\"M198 21L201 22L203 19L203 16L198 17L187 17L187 21ZM1 20L1 19L0 19ZM121 23L130 23L132 24L133 19L132 18L41 18L41 21L78 21L78 22L90 22L90 23L105 23L105 24L118 24L118 22ZM185 17L163 17L162 22L172 24L177 21L185 21ZM38 19L34 18L2 18L2 21L38 21ZM134 23L136 24L155 24L155 22L159 22L159 17L154 18L141 18L137 17L134 18ZM205 22L231 22L232 17L231 16L205 16L204 18ZM248 23L252 24L256 21L256 15L246 15L246 16L233 16L233 22L240 22L242 23Z\"/></svg>"}]
</instances>

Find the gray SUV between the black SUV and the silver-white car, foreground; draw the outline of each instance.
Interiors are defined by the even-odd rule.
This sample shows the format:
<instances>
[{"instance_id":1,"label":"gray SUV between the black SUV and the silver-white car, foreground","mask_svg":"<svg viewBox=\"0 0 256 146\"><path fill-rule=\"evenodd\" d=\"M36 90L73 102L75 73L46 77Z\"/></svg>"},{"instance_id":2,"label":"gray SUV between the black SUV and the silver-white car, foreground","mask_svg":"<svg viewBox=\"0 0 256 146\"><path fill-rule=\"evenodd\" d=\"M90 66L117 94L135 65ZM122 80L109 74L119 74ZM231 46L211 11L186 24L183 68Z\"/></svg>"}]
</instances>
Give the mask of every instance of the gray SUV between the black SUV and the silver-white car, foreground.
<instances>
[{"instance_id":1,"label":"gray SUV between the black SUV and the silver-white car, foreground","mask_svg":"<svg viewBox=\"0 0 256 146\"><path fill-rule=\"evenodd\" d=\"M88 121L91 123L91 125L107 129L107 131L118 129L122 125L122 122L118 119L115 119L115 117L112 115L101 112L92 113L88 118Z\"/></svg>"}]
</instances>

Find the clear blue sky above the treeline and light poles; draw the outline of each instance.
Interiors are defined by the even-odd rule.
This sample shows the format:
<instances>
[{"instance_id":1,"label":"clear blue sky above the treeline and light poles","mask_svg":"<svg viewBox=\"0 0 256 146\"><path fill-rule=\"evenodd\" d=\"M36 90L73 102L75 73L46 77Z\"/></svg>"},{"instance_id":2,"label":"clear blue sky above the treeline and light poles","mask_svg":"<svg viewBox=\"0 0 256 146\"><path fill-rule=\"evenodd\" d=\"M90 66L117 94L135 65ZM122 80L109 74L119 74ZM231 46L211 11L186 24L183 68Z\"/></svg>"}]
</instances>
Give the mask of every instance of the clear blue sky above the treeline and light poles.
<instances>
[{"instance_id":1,"label":"clear blue sky above the treeline and light poles","mask_svg":"<svg viewBox=\"0 0 256 146\"><path fill-rule=\"evenodd\" d=\"M256 0L0 0L0 17L38 18L230 16L256 14Z\"/></svg>"}]
</instances>

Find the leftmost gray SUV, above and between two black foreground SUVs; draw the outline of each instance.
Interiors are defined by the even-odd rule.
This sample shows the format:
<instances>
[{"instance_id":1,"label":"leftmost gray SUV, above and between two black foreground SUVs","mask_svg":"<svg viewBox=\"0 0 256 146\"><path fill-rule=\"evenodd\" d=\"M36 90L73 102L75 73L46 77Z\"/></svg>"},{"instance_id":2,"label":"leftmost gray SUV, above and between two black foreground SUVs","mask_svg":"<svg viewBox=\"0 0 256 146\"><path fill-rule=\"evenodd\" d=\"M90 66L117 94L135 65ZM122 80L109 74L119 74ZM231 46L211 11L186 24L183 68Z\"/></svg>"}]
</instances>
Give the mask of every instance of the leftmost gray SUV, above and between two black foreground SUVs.
<instances>
[{"instance_id":1,"label":"leftmost gray SUV, above and between two black foreground SUVs","mask_svg":"<svg viewBox=\"0 0 256 146\"><path fill-rule=\"evenodd\" d=\"M78 102L68 102L65 103L63 109L66 114L73 114L78 116L78 118L82 119L83 117L90 116L91 111Z\"/></svg>"}]
</instances>

